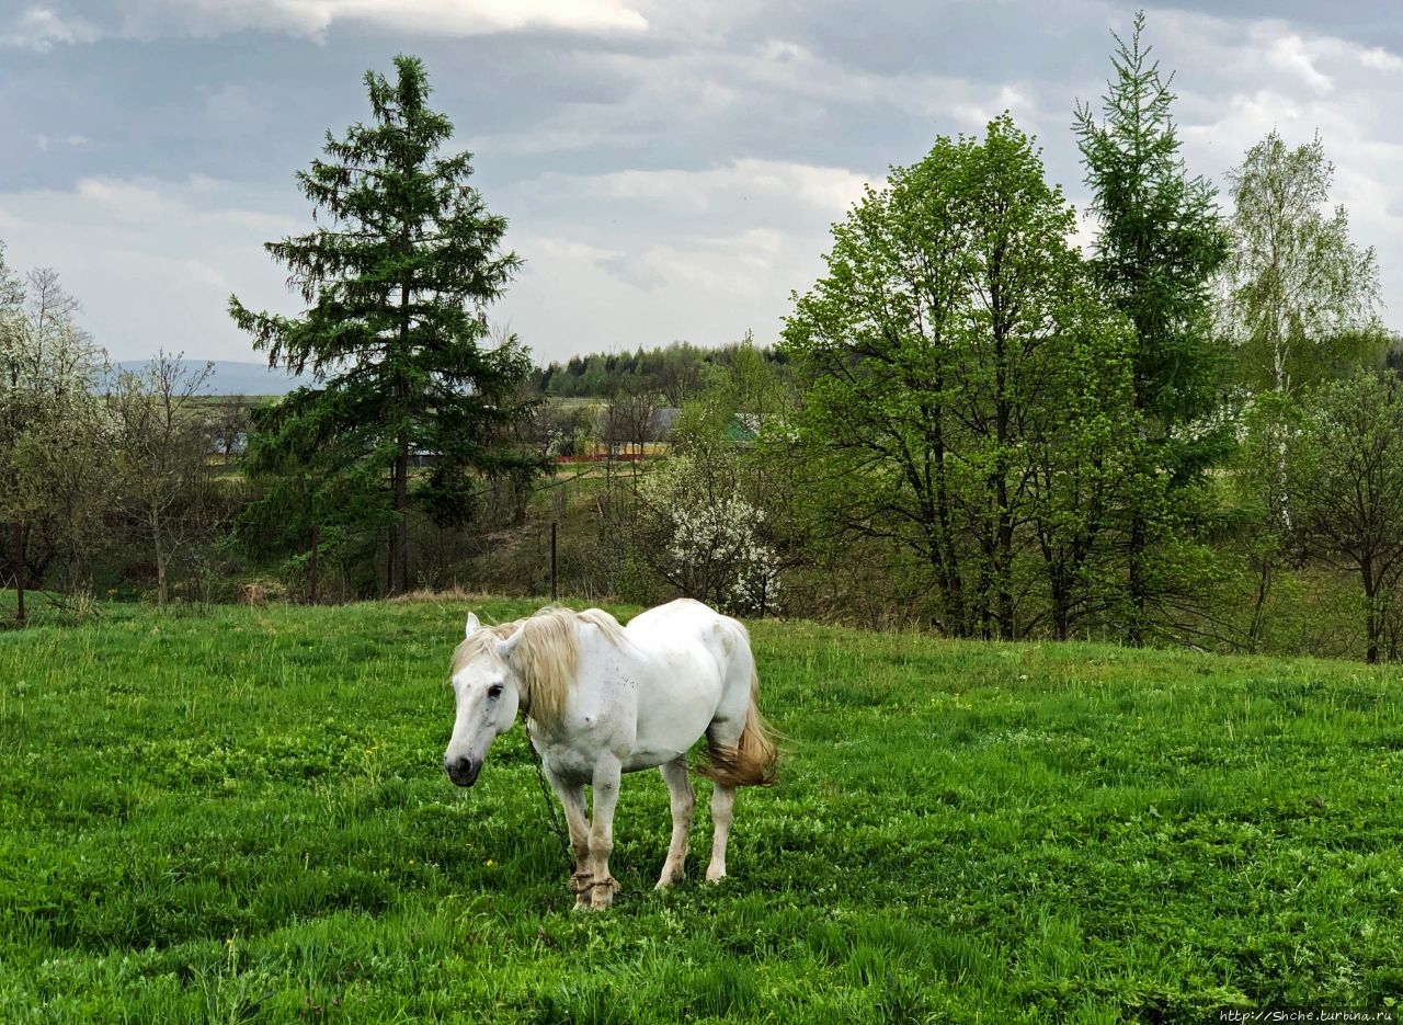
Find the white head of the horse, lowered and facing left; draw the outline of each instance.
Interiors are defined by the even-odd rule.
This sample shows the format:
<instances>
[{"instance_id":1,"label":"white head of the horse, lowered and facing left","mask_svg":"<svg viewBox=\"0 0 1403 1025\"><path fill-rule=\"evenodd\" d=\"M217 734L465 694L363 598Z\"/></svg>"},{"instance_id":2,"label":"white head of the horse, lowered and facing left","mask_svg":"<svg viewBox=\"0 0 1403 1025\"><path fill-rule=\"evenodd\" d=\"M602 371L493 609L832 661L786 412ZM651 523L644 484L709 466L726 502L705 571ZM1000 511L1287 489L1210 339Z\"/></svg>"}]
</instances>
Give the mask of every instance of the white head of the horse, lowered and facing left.
<instances>
[{"instance_id":1,"label":"white head of the horse, lowered and facing left","mask_svg":"<svg viewBox=\"0 0 1403 1025\"><path fill-rule=\"evenodd\" d=\"M521 705L521 688L508 661L521 630L502 637L469 614L466 635L453 653L450 682L457 712L443 753L443 771L459 786L477 782L487 748L512 727Z\"/></svg>"}]
</instances>

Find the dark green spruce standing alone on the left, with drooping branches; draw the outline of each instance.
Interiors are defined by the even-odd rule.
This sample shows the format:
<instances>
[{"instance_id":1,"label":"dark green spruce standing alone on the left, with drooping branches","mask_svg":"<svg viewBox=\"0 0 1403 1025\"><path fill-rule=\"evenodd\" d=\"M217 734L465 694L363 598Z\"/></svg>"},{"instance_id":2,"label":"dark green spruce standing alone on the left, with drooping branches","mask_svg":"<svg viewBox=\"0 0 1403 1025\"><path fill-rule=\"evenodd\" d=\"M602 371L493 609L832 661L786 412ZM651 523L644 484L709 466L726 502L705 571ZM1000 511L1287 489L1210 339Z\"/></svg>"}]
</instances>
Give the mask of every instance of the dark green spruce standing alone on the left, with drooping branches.
<instances>
[{"instance_id":1,"label":"dark green spruce standing alone on the left, with drooping branches","mask_svg":"<svg viewBox=\"0 0 1403 1025\"><path fill-rule=\"evenodd\" d=\"M261 451L334 451L348 480L369 483L358 505L387 524L391 594L410 587L411 508L463 522L485 477L532 469L506 430L526 413L515 396L530 364L515 336L490 344L484 312L521 260L501 251L506 220L467 184L471 153L439 154L453 126L427 105L424 65L394 66L393 83L365 76L372 122L328 132L325 157L297 173L328 223L265 246L307 310L254 313L230 298L271 365L317 381L260 423ZM432 454L428 472L411 473L417 454Z\"/></svg>"}]
</instances>

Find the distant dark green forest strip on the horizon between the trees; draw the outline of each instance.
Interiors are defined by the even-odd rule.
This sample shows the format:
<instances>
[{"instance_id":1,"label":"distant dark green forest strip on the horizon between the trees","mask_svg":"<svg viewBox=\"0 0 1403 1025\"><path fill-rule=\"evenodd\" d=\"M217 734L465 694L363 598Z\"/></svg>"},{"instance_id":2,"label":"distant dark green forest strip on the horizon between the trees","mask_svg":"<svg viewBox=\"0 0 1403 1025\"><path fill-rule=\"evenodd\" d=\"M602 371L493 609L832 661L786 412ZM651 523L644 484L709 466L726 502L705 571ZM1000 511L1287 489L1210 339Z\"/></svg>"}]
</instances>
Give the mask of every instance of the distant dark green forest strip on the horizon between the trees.
<instances>
[{"instance_id":1,"label":"distant dark green forest strip on the horizon between the trees","mask_svg":"<svg viewBox=\"0 0 1403 1025\"><path fill-rule=\"evenodd\" d=\"M769 345L755 345L749 334L744 341L721 348L702 348L690 341L643 348L634 352L591 352L553 362L532 371L532 388L539 395L563 399L609 399L620 393L654 392L671 406L682 406L706 388L720 368L734 364L742 348L753 348L770 366L788 366L788 358Z\"/></svg>"}]
</instances>

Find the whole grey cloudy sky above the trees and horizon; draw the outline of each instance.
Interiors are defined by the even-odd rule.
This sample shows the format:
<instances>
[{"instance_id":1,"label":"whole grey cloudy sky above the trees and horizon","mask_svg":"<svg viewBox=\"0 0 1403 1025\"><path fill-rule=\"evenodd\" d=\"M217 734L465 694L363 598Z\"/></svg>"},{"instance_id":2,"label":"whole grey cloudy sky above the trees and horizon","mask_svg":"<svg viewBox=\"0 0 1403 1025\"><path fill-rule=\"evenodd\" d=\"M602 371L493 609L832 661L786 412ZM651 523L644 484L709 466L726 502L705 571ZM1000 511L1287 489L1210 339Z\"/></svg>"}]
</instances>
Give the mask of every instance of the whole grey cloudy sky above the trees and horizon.
<instances>
[{"instance_id":1,"label":"whole grey cloudy sky above the trees and horizon","mask_svg":"<svg viewBox=\"0 0 1403 1025\"><path fill-rule=\"evenodd\" d=\"M293 171L424 58L434 105L526 260L492 310L539 361L748 329L773 341L863 183L1003 110L1080 209L1070 133L1118 0L0 0L0 242L53 267L114 359L260 359L293 312L262 251L306 230ZM1334 201L1403 326L1403 14L1382 0L1146 6L1190 170L1319 131Z\"/></svg>"}]
</instances>

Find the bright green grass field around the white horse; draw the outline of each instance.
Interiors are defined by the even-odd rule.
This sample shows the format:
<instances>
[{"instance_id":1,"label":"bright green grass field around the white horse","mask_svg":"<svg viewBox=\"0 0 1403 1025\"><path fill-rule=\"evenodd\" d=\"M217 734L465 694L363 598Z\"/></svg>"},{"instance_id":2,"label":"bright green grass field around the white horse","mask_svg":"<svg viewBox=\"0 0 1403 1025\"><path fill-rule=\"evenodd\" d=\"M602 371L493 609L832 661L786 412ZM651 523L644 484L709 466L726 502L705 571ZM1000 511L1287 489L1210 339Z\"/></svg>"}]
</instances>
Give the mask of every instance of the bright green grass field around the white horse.
<instances>
[{"instance_id":1,"label":"bright green grass field around the white horse","mask_svg":"<svg viewBox=\"0 0 1403 1025\"><path fill-rule=\"evenodd\" d=\"M483 602L513 618L532 602ZM1396 1008L1390 670L755 623L730 869L574 914L521 729L439 762L463 602L0 633L4 1022L1180 1022ZM706 785L699 783L699 812Z\"/></svg>"}]
</instances>

